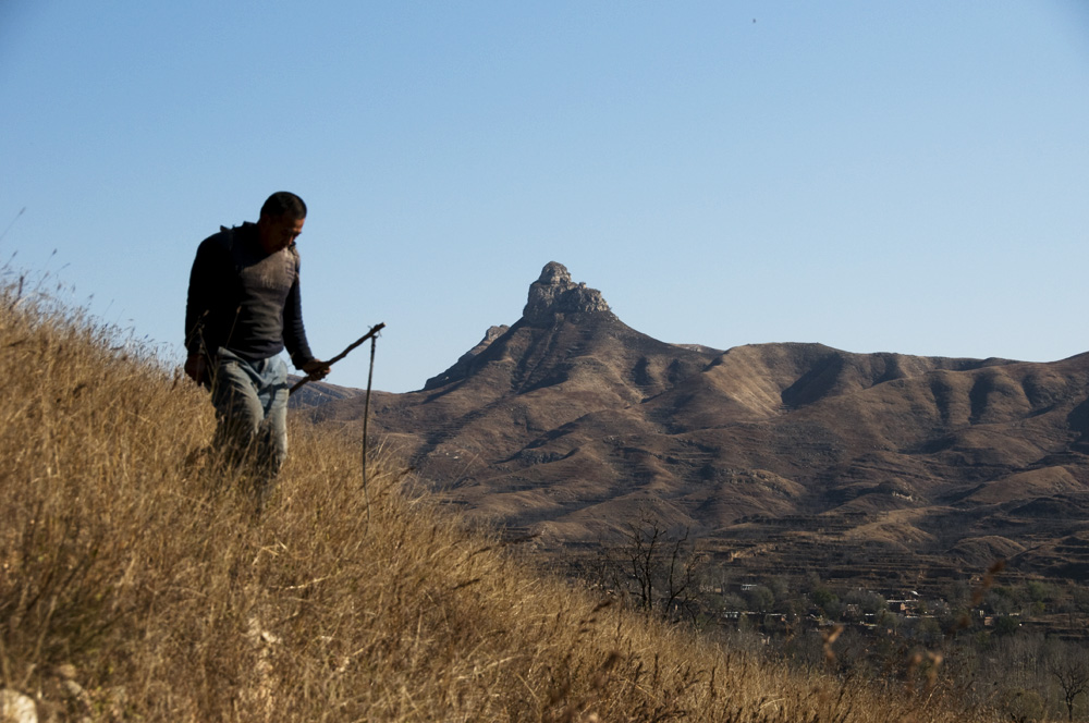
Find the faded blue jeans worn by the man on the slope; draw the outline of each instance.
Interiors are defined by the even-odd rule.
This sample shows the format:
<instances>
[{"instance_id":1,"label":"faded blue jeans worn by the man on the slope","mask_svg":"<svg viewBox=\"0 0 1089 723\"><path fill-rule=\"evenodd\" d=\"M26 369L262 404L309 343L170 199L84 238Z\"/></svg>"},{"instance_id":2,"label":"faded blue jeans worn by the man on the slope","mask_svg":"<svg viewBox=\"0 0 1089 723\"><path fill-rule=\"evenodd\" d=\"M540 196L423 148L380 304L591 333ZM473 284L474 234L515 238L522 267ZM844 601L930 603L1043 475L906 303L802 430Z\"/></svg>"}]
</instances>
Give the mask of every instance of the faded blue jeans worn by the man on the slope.
<instances>
[{"instance_id":1,"label":"faded blue jeans worn by the man on the slope","mask_svg":"<svg viewBox=\"0 0 1089 723\"><path fill-rule=\"evenodd\" d=\"M287 365L279 356L247 362L220 347L212 377L212 444L254 473L258 502L272 492L287 457Z\"/></svg>"}]
</instances>

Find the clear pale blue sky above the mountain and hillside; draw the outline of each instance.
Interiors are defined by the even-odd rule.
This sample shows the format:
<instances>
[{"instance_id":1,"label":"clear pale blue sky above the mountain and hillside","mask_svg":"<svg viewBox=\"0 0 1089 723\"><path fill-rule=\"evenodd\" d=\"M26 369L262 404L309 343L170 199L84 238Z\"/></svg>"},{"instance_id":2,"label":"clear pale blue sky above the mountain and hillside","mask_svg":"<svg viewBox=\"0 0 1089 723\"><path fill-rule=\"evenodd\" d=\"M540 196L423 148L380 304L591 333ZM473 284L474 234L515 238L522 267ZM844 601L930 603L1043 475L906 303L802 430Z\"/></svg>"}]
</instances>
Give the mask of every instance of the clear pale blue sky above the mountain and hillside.
<instances>
[{"instance_id":1,"label":"clear pale blue sky above the mountain and hillside","mask_svg":"<svg viewBox=\"0 0 1089 723\"><path fill-rule=\"evenodd\" d=\"M9 270L179 364L279 189L315 353L386 322L387 391L552 260L668 342L1089 351L1086 0L3 0L0 119Z\"/></svg>"}]
</instances>

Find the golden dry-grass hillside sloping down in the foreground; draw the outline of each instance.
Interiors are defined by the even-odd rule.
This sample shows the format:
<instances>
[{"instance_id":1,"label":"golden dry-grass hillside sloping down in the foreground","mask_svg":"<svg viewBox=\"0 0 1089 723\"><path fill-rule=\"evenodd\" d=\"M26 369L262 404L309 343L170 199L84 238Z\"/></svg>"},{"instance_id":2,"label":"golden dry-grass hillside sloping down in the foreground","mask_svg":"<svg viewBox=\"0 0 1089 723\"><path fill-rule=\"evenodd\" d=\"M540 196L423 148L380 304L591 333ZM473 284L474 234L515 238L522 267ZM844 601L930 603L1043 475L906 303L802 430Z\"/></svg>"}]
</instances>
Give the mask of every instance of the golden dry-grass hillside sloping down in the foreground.
<instances>
[{"instance_id":1,"label":"golden dry-grass hillside sloping down in the foreground","mask_svg":"<svg viewBox=\"0 0 1089 723\"><path fill-rule=\"evenodd\" d=\"M293 422L255 518L206 394L0 290L0 686L91 721L983 721L647 622L534 573L358 441ZM939 671L940 673L940 671Z\"/></svg>"}]
</instances>

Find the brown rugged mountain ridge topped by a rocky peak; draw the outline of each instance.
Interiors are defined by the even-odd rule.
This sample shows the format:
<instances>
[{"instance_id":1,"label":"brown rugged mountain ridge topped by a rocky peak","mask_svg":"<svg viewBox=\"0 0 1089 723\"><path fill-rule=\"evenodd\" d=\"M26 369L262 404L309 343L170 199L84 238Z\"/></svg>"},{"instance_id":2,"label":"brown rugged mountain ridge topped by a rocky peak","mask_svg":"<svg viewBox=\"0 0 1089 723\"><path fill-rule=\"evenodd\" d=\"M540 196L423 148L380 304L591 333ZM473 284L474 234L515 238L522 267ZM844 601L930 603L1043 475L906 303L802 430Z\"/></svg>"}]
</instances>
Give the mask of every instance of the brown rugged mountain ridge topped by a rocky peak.
<instances>
[{"instance_id":1,"label":"brown rugged mountain ridge topped by a rocky peak","mask_svg":"<svg viewBox=\"0 0 1089 723\"><path fill-rule=\"evenodd\" d=\"M346 395L308 414L362 409ZM669 344L551 262L521 319L371 412L444 499L542 546L652 516L784 571L941 579L1003 559L1089 576L1089 354Z\"/></svg>"}]
</instances>

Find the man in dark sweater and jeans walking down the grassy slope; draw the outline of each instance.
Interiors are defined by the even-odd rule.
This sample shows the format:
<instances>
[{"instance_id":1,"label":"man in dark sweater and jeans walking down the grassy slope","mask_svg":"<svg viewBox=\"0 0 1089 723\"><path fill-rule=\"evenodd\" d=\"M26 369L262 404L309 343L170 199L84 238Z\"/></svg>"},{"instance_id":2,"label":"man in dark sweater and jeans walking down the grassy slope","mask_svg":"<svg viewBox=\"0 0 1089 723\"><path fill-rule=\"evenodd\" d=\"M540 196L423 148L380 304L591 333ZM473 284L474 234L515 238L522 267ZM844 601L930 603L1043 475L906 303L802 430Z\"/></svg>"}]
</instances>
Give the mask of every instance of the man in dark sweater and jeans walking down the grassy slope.
<instances>
[{"instance_id":1,"label":"man in dark sweater and jeans walking down the grassy slope","mask_svg":"<svg viewBox=\"0 0 1089 723\"><path fill-rule=\"evenodd\" d=\"M287 453L286 346L295 368L321 379L329 367L306 342L298 250L306 204L281 191L257 223L209 236L197 248L185 307L185 373L211 388L213 444L254 473L258 508Z\"/></svg>"}]
</instances>

